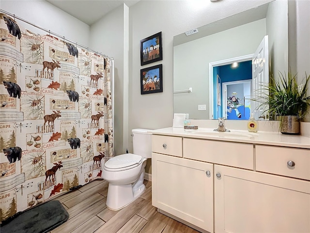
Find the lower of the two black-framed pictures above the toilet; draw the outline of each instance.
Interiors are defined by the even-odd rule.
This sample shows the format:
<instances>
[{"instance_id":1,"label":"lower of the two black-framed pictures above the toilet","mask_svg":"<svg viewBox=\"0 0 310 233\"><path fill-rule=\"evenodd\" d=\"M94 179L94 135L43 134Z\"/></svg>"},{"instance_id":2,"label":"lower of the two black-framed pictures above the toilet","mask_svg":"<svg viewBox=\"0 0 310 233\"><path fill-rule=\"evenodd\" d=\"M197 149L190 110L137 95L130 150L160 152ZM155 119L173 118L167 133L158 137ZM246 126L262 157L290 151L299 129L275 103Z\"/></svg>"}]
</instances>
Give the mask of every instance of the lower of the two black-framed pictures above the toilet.
<instances>
[{"instance_id":1,"label":"lower of the two black-framed pictures above the toilet","mask_svg":"<svg viewBox=\"0 0 310 233\"><path fill-rule=\"evenodd\" d=\"M163 92L163 65L140 70L141 95Z\"/></svg>"}]
</instances>

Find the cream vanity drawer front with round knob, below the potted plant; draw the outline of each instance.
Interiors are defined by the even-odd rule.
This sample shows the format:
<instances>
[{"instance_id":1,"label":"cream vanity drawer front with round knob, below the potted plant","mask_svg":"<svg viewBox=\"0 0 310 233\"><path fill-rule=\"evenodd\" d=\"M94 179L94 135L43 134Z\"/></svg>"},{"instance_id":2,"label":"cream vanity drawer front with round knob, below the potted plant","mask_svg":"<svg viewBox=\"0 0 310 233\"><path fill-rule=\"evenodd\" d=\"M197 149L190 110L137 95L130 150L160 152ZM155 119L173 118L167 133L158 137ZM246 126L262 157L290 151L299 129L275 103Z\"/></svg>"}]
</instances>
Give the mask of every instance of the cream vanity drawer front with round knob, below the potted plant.
<instances>
[{"instance_id":1,"label":"cream vanity drawer front with round knob, below the potted plant","mask_svg":"<svg viewBox=\"0 0 310 233\"><path fill-rule=\"evenodd\" d=\"M255 154L257 171L310 180L309 149L256 145Z\"/></svg>"}]
</instances>

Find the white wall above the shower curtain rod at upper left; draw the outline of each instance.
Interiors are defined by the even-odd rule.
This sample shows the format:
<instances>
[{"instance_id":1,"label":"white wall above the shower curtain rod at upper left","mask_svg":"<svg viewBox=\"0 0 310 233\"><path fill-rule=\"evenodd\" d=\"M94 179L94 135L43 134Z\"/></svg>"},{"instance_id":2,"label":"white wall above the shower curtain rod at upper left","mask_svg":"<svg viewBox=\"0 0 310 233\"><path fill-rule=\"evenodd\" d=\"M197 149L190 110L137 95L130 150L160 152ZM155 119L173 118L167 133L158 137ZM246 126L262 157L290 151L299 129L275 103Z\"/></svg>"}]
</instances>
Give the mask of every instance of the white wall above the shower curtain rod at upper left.
<instances>
[{"instance_id":1,"label":"white wall above the shower curtain rod at upper left","mask_svg":"<svg viewBox=\"0 0 310 233\"><path fill-rule=\"evenodd\" d=\"M1 0L1 10L57 33L78 44L89 46L90 27L45 0ZM48 34L27 23L18 24L33 33Z\"/></svg>"}]
</instances>

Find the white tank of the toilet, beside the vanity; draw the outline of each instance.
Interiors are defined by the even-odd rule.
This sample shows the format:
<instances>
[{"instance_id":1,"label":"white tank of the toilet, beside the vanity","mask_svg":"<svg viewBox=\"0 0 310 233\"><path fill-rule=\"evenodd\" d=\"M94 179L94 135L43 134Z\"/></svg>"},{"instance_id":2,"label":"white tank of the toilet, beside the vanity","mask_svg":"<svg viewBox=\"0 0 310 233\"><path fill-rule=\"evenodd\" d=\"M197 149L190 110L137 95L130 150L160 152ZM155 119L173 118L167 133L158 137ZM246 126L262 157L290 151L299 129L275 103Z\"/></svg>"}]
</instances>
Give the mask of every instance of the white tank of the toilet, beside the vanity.
<instances>
[{"instance_id":1,"label":"white tank of the toilet, beside the vanity","mask_svg":"<svg viewBox=\"0 0 310 233\"><path fill-rule=\"evenodd\" d=\"M131 131L134 154L143 158L152 158L152 133L147 133L150 131L152 130L133 129Z\"/></svg>"}]
</instances>

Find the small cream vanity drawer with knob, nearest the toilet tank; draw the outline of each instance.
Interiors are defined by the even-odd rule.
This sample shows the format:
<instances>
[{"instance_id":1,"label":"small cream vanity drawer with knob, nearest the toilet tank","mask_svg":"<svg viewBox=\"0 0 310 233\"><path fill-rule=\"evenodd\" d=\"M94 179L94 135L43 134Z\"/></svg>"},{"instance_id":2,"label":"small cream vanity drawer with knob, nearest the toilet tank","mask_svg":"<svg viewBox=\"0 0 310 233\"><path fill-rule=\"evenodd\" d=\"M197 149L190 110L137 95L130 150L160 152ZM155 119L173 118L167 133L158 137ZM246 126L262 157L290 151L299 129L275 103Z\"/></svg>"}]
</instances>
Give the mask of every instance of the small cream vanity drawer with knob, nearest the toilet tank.
<instances>
[{"instance_id":1,"label":"small cream vanity drawer with knob, nearest the toilet tank","mask_svg":"<svg viewBox=\"0 0 310 233\"><path fill-rule=\"evenodd\" d=\"M182 157L182 137L152 135L152 151Z\"/></svg>"}]
</instances>

